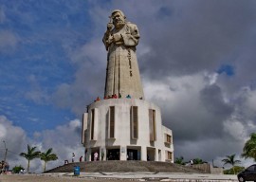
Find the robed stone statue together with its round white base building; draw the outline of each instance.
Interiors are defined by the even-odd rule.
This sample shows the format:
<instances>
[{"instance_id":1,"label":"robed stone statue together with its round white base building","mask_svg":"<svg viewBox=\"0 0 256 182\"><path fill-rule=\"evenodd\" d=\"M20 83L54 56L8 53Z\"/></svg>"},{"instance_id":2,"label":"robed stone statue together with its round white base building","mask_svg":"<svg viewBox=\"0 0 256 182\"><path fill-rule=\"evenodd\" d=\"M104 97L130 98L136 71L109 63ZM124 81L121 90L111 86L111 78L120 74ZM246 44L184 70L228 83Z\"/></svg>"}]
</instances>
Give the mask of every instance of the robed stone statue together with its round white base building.
<instances>
[{"instance_id":1,"label":"robed stone statue together with its round white base building","mask_svg":"<svg viewBox=\"0 0 256 182\"><path fill-rule=\"evenodd\" d=\"M103 37L108 52L105 98L87 105L82 117L86 161L97 153L101 160L173 163L172 130L162 125L160 108L144 99L136 56L137 26L126 22L119 9L110 18Z\"/></svg>"}]
</instances>

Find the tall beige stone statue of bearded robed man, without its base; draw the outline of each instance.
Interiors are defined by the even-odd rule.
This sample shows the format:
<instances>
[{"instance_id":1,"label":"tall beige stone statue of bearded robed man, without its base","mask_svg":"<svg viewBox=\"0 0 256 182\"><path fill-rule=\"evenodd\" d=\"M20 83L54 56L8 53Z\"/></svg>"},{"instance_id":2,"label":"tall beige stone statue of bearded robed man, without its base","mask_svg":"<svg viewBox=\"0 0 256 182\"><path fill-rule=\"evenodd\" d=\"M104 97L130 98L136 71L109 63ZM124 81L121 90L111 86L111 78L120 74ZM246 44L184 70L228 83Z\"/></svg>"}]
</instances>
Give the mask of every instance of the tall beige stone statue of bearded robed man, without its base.
<instances>
[{"instance_id":1,"label":"tall beige stone statue of bearded robed man, without its base","mask_svg":"<svg viewBox=\"0 0 256 182\"><path fill-rule=\"evenodd\" d=\"M102 40L108 51L104 96L144 99L136 56L138 29L125 19L121 10L113 10Z\"/></svg>"}]
</instances>

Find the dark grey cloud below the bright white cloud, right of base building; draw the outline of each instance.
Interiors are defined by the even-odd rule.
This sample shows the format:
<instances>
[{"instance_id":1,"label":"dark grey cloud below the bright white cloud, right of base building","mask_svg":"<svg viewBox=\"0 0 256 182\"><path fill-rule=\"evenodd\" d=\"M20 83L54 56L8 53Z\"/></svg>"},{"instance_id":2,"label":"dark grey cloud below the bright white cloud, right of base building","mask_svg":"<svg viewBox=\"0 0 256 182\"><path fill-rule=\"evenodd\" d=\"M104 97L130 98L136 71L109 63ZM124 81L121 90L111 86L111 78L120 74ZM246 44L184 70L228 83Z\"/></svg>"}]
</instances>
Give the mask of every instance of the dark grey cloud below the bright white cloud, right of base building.
<instances>
[{"instance_id":1,"label":"dark grey cloud below the bright white cloud, right of base building","mask_svg":"<svg viewBox=\"0 0 256 182\"><path fill-rule=\"evenodd\" d=\"M190 91L188 91L190 94ZM202 138L224 137L223 122L233 108L224 103L221 90L210 85L198 91L196 100L180 98L172 110L163 108L166 125L173 129L177 140L200 141ZM169 102L172 104L172 102Z\"/></svg>"}]
</instances>

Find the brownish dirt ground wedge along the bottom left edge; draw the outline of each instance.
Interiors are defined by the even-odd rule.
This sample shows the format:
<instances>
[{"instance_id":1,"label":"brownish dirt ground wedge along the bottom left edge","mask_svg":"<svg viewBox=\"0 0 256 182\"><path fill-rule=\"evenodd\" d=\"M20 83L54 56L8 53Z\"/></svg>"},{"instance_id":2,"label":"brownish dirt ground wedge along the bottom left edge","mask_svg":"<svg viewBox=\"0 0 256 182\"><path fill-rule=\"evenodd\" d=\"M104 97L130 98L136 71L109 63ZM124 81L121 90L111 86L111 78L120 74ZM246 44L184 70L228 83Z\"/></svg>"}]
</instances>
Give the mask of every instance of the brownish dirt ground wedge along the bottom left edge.
<instances>
[{"instance_id":1,"label":"brownish dirt ground wedge along the bottom left edge","mask_svg":"<svg viewBox=\"0 0 256 182\"><path fill-rule=\"evenodd\" d=\"M0 182L131 182L128 179L89 179L89 178L79 178L79 177L58 177L58 176L41 176L33 174L1 174Z\"/></svg>"}]
</instances>

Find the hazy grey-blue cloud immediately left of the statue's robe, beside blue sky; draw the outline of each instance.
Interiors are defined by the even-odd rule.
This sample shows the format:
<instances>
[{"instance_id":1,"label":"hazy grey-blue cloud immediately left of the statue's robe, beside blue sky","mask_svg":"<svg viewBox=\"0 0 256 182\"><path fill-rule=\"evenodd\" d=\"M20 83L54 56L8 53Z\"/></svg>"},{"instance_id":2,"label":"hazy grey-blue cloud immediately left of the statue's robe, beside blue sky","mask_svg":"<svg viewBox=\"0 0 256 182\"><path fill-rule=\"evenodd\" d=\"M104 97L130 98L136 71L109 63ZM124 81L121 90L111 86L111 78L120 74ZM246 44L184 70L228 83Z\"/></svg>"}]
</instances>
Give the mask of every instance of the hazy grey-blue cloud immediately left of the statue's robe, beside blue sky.
<instances>
[{"instance_id":1,"label":"hazy grey-blue cloud immediately left of the statue's robe, beside blue sky","mask_svg":"<svg viewBox=\"0 0 256 182\"><path fill-rule=\"evenodd\" d=\"M81 116L84 106L93 101L92 97L96 99L102 96L102 73L106 67L107 51L98 38L77 49L68 49L68 55L72 64L78 67L75 80L72 83L60 84L52 95L52 100L58 106L71 108L75 114Z\"/></svg>"}]
</instances>

